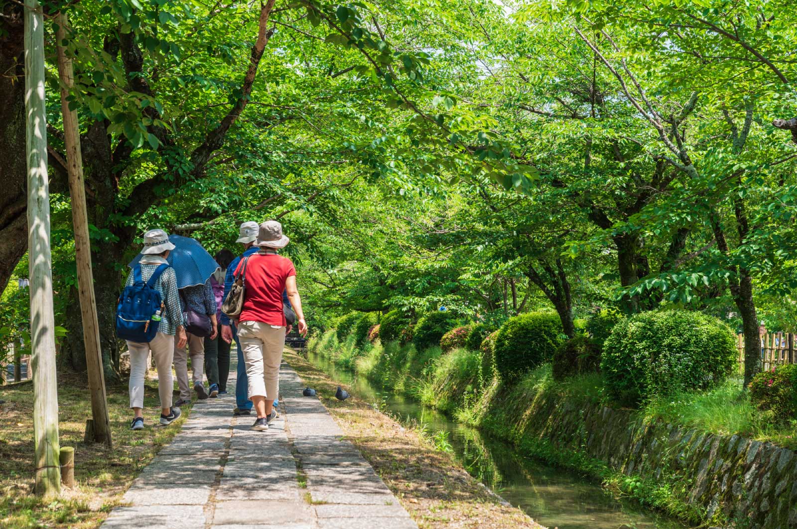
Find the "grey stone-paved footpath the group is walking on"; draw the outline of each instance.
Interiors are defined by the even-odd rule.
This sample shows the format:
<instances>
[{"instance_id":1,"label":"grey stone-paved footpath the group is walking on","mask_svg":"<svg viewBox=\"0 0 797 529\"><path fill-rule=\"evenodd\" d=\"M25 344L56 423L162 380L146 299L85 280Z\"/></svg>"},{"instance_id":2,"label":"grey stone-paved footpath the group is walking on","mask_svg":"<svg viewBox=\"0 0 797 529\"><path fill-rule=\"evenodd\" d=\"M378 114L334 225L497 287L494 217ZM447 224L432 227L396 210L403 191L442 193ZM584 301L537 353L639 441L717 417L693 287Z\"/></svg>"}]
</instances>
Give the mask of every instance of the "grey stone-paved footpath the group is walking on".
<instances>
[{"instance_id":1,"label":"grey stone-paved footpath the group is walking on","mask_svg":"<svg viewBox=\"0 0 797 529\"><path fill-rule=\"evenodd\" d=\"M235 366L228 386L235 387ZM281 417L253 432L233 394L195 404L170 445L133 482L104 529L417 529L290 366Z\"/></svg>"}]
</instances>

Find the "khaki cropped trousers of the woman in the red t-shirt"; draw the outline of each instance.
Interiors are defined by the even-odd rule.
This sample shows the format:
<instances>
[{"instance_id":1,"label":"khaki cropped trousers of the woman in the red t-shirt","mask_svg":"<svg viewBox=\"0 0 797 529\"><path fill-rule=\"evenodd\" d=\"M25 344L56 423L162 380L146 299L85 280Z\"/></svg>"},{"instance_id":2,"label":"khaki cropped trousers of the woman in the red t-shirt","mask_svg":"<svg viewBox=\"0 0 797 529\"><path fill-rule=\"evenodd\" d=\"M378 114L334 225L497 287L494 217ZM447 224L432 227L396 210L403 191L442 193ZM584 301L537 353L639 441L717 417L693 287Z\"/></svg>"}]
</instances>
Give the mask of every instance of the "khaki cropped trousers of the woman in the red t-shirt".
<instances>
[{"instance_id":1,"label":"khaki cropped trousers of the woman in the red t-shirt","mask_svg":"<svg viewBox=\"0 0 797 529\"><path fill-rule=\"evenodd\" d=\"M276 401L280 393L280 363L285 349L285 327L257 321L238 325L238 341L249 378L249 398Z\"/></svg>"}]
</instances>

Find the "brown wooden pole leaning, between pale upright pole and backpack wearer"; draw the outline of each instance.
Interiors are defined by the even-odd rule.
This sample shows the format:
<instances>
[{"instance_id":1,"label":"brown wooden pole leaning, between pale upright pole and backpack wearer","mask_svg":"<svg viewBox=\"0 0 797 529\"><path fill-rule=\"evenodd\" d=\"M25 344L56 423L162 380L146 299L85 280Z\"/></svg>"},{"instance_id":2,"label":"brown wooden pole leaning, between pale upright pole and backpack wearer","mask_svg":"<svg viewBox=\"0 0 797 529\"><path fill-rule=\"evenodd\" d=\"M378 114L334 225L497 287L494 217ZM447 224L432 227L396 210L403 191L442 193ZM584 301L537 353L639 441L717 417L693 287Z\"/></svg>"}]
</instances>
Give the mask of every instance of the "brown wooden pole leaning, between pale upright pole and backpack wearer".
<instances>
[{"instance_id":1,"label":"brown wooden pole leaning, between pale upright pole and backpack wearer","mask_svg":"<svg viewBox=\"0 0 797 529\"><path fill-rule=\"evenodd\" d=\"M83 320L83 345L88 368L88 392L92 400L94 420L93 441L112 447L111 423L108 421L108 397L105 394L105 375L100 347L100 325L97 323L97 308L94 297L92 272L92 249L88 240L88 215L83 182L83 159L80 154L80 127L77 112L69 110L69 92L75 79L72 59L64 49L69 20L66 14L56 17L56 47L58 50L58 76L61 77L61 114L64 116L64 143L66 167L69 172L69 195L72 198L72 224L75 231L75 260L77 261L77 285L80 296L80 317Z\"/></svg>"}]
</instances>

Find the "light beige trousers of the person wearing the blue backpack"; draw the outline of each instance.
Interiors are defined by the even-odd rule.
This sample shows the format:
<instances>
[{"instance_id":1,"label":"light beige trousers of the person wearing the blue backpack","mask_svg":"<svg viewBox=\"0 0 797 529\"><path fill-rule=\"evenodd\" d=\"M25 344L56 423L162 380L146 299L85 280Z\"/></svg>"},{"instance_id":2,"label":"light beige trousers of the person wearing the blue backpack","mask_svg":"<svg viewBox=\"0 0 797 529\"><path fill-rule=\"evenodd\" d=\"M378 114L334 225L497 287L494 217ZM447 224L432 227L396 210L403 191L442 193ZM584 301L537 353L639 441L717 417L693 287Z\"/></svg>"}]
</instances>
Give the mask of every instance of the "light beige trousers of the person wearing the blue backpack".
<instances>
[{"instance_id":1,"label":"light beige trousers of the person wearing the blue backpack","mask_svg":"<svg viewBox=\"0 0 797 529\"><path fill-rule=\"evenodd\" d=\"M171 408L171 391L174 382L171 378L171 361L174 354L175 337L159 332L150 343L137 343L128 341L130 351L130 407L144 407L144 378L149 367L149 353L155 358L155 367L158 370L158 394L160 407Z\"/></svg>"}]
</instances>

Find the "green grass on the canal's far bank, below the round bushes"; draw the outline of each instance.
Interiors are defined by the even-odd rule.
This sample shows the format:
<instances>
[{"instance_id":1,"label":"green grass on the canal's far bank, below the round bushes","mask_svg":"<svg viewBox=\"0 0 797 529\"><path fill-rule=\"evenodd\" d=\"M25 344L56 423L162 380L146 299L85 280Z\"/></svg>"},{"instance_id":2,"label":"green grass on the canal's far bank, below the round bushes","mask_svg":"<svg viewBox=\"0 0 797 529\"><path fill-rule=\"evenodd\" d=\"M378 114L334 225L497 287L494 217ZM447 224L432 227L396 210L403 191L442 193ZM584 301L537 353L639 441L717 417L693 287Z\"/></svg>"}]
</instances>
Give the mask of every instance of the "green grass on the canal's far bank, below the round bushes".
<instances>
[{"instance_id":1,"label":"green grass on the canal's far bank, below the round bushes","mask_svg":"<svg viewBox=\"0 0 797 529\"><path fill-rule=\"evenodd\" d=\"M507 386L497 378L480 378L481 355L477 351L454 349L444 354L438 347L417 351L411 344L402 347L398 343L366 343L355 347L351 338L338 343L332 333L312 340L309 347L395 392L410 395L427 406L450 413L458 421L512 442L525 456L591 476L618 496L630 496L641 504L694 523L706 523L709 519L726 521L719 513L707 515L705 508L685 502L691 482L682 479L678 472L657 476L655 480L629 476L611 468L604 460L590 457L577 445L561 448L571 440L558 439L559 427L547 424L557 420L553 417L559 417L555 412L557 406L563 402L577 409L612 406L599 374L556 382L550 364L546 364ZM795 448L795 425L772 425L771 417L752 406L737 380L706 392L654 399L642 409L622 413L627 413L629 420L643 429L666 423L705 433L739 434ZM574 433L580 437L578 432L562 432L569 436Z\"/></svg>"}]
</instances>

